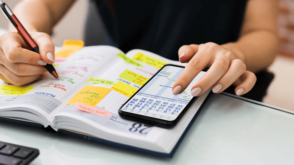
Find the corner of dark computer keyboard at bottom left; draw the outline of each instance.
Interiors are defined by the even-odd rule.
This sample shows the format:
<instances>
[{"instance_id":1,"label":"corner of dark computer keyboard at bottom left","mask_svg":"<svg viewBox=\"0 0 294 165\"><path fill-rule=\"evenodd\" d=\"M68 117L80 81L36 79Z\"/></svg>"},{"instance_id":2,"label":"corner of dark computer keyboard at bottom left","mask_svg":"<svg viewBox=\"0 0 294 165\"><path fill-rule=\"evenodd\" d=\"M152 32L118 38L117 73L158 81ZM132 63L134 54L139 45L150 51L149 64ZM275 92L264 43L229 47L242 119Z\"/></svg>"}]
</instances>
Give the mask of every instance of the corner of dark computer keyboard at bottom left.
<instances>
[{"instance_id":1,"label":"corner of dark computer keyboard at bottom left","mask_svg":"<svg viewBox=\"0 0 294 165\"><path fill-rule=\"evenodd\" d=\"M0 141L0 164L25 165L39 155L39 150Z\"/></svg>"}]
</instances>

